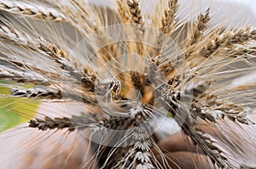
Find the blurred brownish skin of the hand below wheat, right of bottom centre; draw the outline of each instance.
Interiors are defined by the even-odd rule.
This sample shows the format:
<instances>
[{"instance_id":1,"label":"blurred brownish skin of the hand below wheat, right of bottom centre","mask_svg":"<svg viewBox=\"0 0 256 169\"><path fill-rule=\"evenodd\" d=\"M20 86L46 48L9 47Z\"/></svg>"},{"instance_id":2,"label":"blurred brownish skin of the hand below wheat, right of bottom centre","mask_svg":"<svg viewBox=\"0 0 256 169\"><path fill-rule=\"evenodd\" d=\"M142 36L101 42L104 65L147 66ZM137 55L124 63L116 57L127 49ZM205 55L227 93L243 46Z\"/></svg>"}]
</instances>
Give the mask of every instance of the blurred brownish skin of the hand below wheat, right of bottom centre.
<instances>
[{"instance_id":1,"label":"blurred brownish skin of the hand below wheat, right of bottom centre","mask_svg":"<svg viewBox=\"0 0 256 169\"><path fill-rule=\"evenodd\" d=\"M191 139L183 132L177 132L158 143L161 151L166 156L168 164L173 168L216 168L212 162L203 154L203 151L193 144ZM153 149L156 158L161 161L161 155Z\"/></svg>"}]
</instances>

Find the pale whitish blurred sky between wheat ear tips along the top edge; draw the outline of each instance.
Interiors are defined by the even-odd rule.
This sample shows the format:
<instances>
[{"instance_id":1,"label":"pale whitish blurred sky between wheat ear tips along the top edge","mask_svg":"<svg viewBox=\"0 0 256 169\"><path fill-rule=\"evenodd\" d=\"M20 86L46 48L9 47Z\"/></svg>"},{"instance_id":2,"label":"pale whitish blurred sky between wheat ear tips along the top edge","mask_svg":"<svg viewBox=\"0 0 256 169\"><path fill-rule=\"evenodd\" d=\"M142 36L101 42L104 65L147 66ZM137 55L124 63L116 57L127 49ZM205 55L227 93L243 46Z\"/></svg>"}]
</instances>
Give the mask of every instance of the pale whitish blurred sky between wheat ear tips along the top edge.
<instances>
[{"instance_id":1,"label":"pale whitish blurred sky between wheat ear tips along the top edge","mask_svg":"<svg viewBox=\"0 0 256 169\"><path fill-rule=\"evenodd\" d=\"M108 6L110 8L116 8L115 0L85 0L90 3L94 3L100 6ZM166 0L139 0L143 5L143 13L152 13L152 8L156 5L158 1ZM230 3L222 3L230 2ZM180 0L183 4L179 18L186 19L189 16L189 20L196 20L197 14L192 14L190 10L184 10L184 8L198 6L201 7L201 11L207 9L209 4L212 4L212 11L217 11L218 14L214 14L214 20L212 20L213 25L219 24L223 20L229 19L224 26L229 26L230 22L232 25L238 27L247 24L256 25L256 0ZM201 3L202 5L200 5ZM204 8L204 9L203 9ZM245 23L247 22L247 23Z\"/></svg>"}]
</instances>

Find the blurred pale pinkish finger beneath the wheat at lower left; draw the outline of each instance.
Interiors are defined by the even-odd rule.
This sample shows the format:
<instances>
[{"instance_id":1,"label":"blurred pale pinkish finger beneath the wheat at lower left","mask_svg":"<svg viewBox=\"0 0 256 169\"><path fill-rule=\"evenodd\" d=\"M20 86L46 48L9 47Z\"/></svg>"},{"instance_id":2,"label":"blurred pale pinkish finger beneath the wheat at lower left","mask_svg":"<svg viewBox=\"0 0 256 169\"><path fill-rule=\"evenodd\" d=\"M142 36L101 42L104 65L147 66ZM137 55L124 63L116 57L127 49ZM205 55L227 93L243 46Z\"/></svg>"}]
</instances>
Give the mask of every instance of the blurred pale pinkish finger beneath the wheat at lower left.
<instances>
[{"instance_id":1,"label":"blurred pale pinkish finger beneath the wheat at lower left","mask_svg":"<svg viewBox=\"0 0 256 169\"><path fill-rule=\"evenodd\" d=\"M55 132L47 139L39 135L36 137L38 144L27 143L28 149L20 155L19 168L96 169L97 165L92 165L96 161L93 161L89 142L78 132L71 132L67 138L61 139L63 132ZM90 163L86 164L87 161Z\"/></svg>"}]
</instances>

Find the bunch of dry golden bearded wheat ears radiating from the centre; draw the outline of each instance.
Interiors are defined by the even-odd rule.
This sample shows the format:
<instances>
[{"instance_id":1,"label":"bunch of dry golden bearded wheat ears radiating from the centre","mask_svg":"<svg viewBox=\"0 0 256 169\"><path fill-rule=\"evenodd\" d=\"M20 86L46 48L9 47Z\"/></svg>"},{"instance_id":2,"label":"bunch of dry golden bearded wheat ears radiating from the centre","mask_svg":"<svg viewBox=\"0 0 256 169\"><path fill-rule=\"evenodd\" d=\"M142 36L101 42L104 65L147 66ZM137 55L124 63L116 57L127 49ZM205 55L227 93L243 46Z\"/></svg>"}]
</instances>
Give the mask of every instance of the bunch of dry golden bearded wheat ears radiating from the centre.
<instances>
[{"instance_id":1,"label":"bunch of dry golden bearded wheat ears radiating from the centre","mask_svg":"<svg viewBox=\"0 0 256 169\"><path fill-rule=\"evenodd\" d=\"M166 155L168 148L158 144L164 138L155 121L165 118L177 121L186 143L197 149L194 159L206 155L204 167L250 166L244 147L253 140L243 127L253 125L247 115L253 114L256 90L242 77L256 72L256 30L212 25L211 4L195 22L181 20L180 5L159 1L143 14L137 0L117 0L115 8L84 0L0 0L0 87L9 88L1 100L80 105L67 114L49 106L37 117L26 113L32 110L15 111L29 121L26 130L54 130L47 138L66 130L60 143L48 143L54 149L76 138L69 144L84 150L77 158L69 158L72 149L57 158L26 144L20 154L34 149L54 163L33 166L36 157L25 156L26 167L180 168L186 161ZM37 139L29 143L44 143Z\"/></svg>"}]
</instances>

